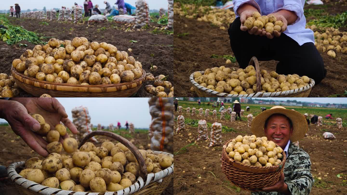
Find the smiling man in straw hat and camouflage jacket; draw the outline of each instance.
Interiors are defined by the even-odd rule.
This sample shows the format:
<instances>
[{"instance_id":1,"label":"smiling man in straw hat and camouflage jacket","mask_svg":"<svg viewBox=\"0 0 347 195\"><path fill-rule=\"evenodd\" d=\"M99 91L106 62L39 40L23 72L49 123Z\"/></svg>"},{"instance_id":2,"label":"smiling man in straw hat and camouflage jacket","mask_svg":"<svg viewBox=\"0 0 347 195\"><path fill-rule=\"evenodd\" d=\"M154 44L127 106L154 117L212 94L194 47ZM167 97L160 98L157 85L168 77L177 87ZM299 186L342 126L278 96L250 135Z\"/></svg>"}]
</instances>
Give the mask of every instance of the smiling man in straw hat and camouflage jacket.
<instances>
[{"instance_id":1,"label":"smiling man in straw hat and camouflage jacket","mask_svg":"<svg viewBox=\"0 0 347 195\"><path fill-rule=\"evenodd\" d=\"M310 171L310 156L293 144L305 136L307 128L307 122L301 113L281 106L261 112L253 119L253 134L257 137L267 137L268 141L279 145L286 153L287 159L283 170L285 174L282 173L280 180L270 187L263 188L264 192L252 192L252 195L310 194L314 183Z\"/></svg>"}]
</instances>

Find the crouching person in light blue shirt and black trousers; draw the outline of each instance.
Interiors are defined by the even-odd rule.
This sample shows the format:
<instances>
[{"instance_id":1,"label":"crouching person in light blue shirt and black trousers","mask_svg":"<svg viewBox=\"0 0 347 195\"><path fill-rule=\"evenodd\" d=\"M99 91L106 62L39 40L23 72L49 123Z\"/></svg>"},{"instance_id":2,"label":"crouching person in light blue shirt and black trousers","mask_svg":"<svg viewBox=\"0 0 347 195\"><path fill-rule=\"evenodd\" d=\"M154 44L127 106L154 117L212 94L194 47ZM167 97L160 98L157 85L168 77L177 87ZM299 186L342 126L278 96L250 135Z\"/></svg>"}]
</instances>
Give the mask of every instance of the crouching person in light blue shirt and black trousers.
<instances>
[{"instance_id":1,"label":"crouching person in light blue shirt and black trousers","mask_svg":"<svg viewBox=\"0 0 347 195\"><path fill-rule=\"evenodd\" d=\"M229 27L230 45L240 68L246 68L255 56L260 61L279 61L278 74L308 76L320 83L327 74L324 62L314 46L313 31L305 28L304 0L233 0L236 19ZM281 32L273 35L264 29L244 26L254 11L274 15L281 20ZM255 18L256 19L256 18ZM264 25L265 26L265 25Z\"/></svg>"}]
</instances>

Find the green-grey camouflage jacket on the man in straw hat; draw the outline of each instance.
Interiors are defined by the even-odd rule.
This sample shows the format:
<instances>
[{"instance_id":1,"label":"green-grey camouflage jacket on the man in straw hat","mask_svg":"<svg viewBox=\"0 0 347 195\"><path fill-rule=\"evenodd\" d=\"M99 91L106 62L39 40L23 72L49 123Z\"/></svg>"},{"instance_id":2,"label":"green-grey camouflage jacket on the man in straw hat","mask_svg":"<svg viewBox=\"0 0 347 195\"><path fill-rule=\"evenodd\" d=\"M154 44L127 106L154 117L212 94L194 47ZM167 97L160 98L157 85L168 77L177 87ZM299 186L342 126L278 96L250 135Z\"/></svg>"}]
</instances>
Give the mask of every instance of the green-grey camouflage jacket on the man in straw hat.
<instances>
[{"instance_id":1,"label":"green-grey camouflage jacket on the man in straw hat","mask_svg":"<svg viewBox=\"0 0 347 195\"><path fill-rule=\"evenodd\" d=\"M285 183L293 195L308 195L314 179L311 175L310 156L290 142L284 167ZM277 192L252 192L252 195L277 195Z\"/></svg>"}]
</instances>

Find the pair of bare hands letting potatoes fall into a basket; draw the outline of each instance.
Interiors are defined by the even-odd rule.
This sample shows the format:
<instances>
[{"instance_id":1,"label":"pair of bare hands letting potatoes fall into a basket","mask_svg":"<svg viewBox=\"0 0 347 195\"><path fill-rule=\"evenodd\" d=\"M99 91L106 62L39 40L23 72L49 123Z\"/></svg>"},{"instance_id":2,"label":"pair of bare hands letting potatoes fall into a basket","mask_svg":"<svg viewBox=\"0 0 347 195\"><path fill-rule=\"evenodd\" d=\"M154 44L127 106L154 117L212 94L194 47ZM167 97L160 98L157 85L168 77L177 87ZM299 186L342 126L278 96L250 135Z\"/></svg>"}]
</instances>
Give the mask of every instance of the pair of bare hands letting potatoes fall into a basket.
<instances>
[{"instance_id":1,"label":"pair of bare hands letting potatoes fall into a basket","mask_svg":"<svg viewBox=\"0 0 347 195\"><path fill-rule=\"evenodd\" d=\"M16 97L9 100L0 99L0 118L5 119L15 134L22 137L24 142L41 156L48 156L49 153L45 148L49 143L42 138L42 135L35 133L41 129L41 125L28 113L41 115L45 122L51 126L51 129L54 129L61 121L73 134L78 133L76 127L67 118L65 108L55 98ZM69 135L66 134L62 137L65 139ZM60 138L60 142L63 139Z\"/></svg>"}]
</instances>

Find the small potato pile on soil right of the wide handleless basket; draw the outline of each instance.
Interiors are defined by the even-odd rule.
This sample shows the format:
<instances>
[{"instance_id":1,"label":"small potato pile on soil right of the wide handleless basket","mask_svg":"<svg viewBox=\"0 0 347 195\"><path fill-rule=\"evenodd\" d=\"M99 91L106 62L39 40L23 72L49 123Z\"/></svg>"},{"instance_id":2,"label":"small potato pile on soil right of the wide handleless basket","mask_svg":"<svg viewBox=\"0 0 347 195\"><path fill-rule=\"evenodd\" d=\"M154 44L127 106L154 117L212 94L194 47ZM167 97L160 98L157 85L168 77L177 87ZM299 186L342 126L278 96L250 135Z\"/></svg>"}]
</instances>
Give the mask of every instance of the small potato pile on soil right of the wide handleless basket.
<instances>
[{"instance_id":1,"label":"small potato pile on soil right of the wide handleless basket","mask_svg":"<svg viewBox=\"0 0 347 195\"><path fill-rule=\"evenodd\" d=\"M174 97L174 87L172 86L171 82L166 80L166 77L164 75L158 75L156 77L153 76L151 73L146 73L146 80L154 80L154 86L153 85L146 85L146 91L152 95L155 95L157 97ZM170 93L165 93L165 88L170 89Z\"/></svg>"}]
</instances>

